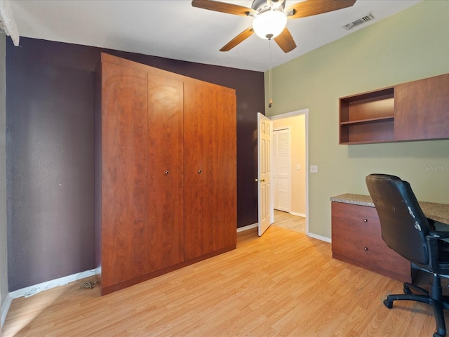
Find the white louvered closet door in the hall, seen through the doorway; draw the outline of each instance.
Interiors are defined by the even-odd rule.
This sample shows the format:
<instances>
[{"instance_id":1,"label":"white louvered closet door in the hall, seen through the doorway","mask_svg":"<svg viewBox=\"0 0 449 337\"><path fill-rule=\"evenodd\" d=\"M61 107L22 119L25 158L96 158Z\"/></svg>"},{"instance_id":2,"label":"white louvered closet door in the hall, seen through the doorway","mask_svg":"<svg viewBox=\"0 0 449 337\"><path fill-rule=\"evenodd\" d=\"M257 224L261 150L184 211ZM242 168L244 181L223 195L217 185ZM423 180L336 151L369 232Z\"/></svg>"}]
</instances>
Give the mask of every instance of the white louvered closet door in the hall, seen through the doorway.
<instances>
[{"instance_id":1,"label":"white louvered closet door in the hall, seen through the doorway","mask_svg":"<svg viewBox=\"0 0 449 337\"><path fill-rule=\"evenodd\" d=\"M272 149L273 207L290 212L290 128L273 131Z\"/></svg>"}]
</instances>

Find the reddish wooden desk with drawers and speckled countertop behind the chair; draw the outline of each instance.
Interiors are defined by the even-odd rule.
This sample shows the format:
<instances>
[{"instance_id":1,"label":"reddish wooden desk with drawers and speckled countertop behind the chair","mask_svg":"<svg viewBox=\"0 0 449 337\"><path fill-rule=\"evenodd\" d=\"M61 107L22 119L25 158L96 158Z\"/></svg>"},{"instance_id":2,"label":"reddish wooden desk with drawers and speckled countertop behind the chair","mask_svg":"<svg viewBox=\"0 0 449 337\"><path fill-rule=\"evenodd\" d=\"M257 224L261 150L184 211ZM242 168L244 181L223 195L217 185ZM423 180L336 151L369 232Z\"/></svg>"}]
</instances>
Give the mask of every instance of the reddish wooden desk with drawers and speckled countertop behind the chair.
<instances>
[{"instance_id":1,"label":"reddish wooden desk with drawers and speckled countertop behind the chair","mask_svg":"<svg viewBox=\"0 0 449 337\"><path fill-rule=\"evenodd\" d=\"M380 275L412 282L410 262L382 240L380 221L368 195L342 194L330 198L332 207L332 256ZM449 225L449 205L420 201L432 220Z\"/></svg>"}]
</instances>

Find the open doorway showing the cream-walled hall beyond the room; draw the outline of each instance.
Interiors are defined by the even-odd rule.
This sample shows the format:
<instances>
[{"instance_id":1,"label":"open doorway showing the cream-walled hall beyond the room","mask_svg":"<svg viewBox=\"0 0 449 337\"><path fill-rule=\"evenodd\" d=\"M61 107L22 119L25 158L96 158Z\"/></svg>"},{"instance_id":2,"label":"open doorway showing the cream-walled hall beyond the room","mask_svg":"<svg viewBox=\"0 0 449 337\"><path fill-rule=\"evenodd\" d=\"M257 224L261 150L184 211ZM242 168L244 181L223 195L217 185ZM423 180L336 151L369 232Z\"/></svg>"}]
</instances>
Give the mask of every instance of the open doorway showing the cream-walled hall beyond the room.
<instances>
[{"instance_id":1,"label":"open doorway showing the cream-walled hall beyond the room","mask_svg":"<svg viewBox=\"0 0 449 337\"><path fill-rule=\"evenodd\" d=\"M282 135L273 138L273 225L304 234L309 234L308 112L304 109L270 117L274 134Z\"/></svg>"}]
</instances>

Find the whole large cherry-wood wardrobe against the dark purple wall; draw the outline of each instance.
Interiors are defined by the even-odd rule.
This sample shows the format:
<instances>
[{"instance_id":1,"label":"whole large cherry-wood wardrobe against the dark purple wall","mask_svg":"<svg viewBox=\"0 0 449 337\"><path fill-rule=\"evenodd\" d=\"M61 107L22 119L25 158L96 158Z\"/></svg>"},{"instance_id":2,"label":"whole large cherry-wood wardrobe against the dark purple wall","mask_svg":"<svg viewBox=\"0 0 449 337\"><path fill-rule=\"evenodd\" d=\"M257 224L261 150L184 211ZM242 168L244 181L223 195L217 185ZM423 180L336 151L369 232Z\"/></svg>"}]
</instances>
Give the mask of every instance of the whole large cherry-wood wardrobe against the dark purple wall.
<instances>
[{"instance_id":1,"label":"whole large cherry-wood wardrobe against the dark purple wall","mask_svg":"<svg viewBox=\"0 0 449 337\"><path fill-rule=\"evenodd\" d=\"M236 247L236 95L102 53L95 263L102 295Z\"/></svg>"}]
</instances>

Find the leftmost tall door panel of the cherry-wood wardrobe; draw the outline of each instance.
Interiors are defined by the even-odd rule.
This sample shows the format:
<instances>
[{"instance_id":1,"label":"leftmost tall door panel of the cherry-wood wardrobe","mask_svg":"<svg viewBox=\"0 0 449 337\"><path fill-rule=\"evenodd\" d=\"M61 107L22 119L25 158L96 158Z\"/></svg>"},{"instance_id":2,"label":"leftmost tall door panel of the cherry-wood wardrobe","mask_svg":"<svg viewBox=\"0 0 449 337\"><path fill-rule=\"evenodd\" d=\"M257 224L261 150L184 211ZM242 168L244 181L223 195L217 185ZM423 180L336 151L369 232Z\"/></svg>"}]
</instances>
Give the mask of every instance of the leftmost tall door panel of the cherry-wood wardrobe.
<instances>
[{"instance_id":1,"label":"leftmost tall door panel of the cherry-wood wardrobe","mask_svg":"<svg viewBox=\"0 0 449 337\"><path fill-rule=\"evenodd\" d=\"M102 63L102 288L147 265L147 74Z\"/></svg>"}]
</instances>

